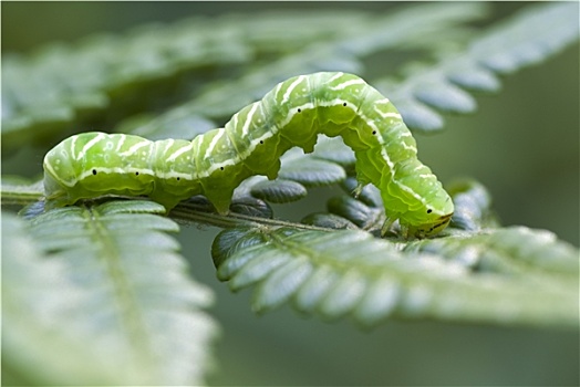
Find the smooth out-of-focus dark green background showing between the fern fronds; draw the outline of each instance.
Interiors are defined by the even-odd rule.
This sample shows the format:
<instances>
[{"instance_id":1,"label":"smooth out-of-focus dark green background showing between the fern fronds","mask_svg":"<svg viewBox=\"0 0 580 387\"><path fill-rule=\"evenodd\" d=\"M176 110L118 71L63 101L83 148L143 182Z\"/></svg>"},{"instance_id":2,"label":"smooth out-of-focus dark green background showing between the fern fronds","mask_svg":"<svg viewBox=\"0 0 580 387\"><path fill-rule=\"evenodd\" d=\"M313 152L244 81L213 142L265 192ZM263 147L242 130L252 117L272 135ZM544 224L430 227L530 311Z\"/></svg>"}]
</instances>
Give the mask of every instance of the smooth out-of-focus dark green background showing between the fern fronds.
<instances>
[{"instance_id":1,"label":"smooth out-of-focus dark green background showing between the fern fronds","mask_svg":"<svg viewBox=\"0 0 580 387\"><path fill-rule=\"evenodd\" d=\"M2 52L74 42L97 31L151 21L265 9L352 8L386 2L2 2ZM493 3L494 19L529 3ZM369 62L370 67L381 63ZM386 72L386 71L385 71ZM372 71L377 73L376 69ZM506 76L497 95L478 96L472 116L446 116L446 129L415 136L421 159L448 182L473 177L490 190L504 224L548 229L579 245L579 50ZM39 155L39 159L42 155ZM11 169L10 160L2 160ZM40 164L39 164L40 168ZM6 170L6 169L4 169ZM11 170L12 171L12 170ZM41 172L39 169L38 172ZM333 195L314 190L303 213ZM297 219L296 207L277 206ZM299 218L299 217L298 217ZM231 294L215 280L209 249L218 230L184 228L183 252L198 280L217 293L222 326L214 385L578 385L578 332L433 322L391 322L371 332L350 323L304 320L283 308L258 317L250 292Z\"/></svg>"}]
</instances>

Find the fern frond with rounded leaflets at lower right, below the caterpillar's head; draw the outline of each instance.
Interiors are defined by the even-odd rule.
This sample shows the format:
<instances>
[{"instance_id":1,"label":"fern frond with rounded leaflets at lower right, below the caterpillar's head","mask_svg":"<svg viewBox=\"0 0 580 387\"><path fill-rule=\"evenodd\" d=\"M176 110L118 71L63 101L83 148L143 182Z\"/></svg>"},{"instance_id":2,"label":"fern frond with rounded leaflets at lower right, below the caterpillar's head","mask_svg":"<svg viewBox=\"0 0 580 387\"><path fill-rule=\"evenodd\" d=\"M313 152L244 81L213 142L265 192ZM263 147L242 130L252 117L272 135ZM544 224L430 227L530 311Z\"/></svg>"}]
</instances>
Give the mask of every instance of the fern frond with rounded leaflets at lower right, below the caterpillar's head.
<instances>
[{"instance_id":1,"label":"fern frond with rounded leaflets at lower right, below the caterpillar's head","mask_svg":"<svg viewBox=\"0 0 580 387\"><path fill-rule=\"evenodd\" d=\"M506 233L490 237L485 248L506 252L520 242L509 230ZM467 249L472 242L466 238L463 243ZM556 259L566 262L567 270L578 269L573 248L553 240L536 243L540 247L540 260ZM252 308L258 312L291 303L324 320L350 315L363 325L387 316L578 324L578 283L569 273L565 283L561 275L535 281L479 273L443 253L402 252L396 244L361 231L229 230L218 236L213 254L219 279L229 281L232 290L256 285Z\"/></svg>"}]
</instances>

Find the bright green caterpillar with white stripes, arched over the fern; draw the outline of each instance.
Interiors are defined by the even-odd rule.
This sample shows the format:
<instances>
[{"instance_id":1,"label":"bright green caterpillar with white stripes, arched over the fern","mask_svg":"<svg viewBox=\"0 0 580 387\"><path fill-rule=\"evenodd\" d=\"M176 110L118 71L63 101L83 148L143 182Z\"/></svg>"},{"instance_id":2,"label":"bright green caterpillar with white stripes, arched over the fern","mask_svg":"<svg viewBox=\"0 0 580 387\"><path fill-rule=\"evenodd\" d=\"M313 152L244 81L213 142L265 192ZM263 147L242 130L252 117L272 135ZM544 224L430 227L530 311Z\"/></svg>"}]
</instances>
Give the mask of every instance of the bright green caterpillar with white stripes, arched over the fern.
<instances>
[{"instance_id":1,"label":"bright green caterpillar with white stripes, arched over the fern","mask_svg":"<svg viewBox=\"0 0 580 387\"><path fill-rule=\"evenodd\" d=\"M396 219L415 237L447 226L452 199L417 159L415 139L395 106L362 79L327 72L279 83L225 127L193 142L104 133L66 138L44 158L46 205L146 195L170 210L205 195L225 213L244 179L276 178L280 156L294 146L312 151L319 134L341 136L354 150L359 189L370 182L380 189L387 216L383 233Z\"/></svg>"}]
</instances>

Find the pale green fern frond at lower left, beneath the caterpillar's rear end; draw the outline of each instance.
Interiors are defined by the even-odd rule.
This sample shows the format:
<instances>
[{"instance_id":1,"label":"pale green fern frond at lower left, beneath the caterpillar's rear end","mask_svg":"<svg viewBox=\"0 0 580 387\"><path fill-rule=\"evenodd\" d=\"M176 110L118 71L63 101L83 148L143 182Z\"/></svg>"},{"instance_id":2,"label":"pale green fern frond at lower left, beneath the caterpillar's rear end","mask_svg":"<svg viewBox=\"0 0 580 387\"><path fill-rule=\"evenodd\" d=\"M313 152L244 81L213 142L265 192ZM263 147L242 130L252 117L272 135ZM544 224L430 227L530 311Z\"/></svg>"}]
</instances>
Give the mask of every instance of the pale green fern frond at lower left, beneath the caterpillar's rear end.
<instances>
[{"instance_id":1,"label":"pale green fern frond at lower left, beneath the caterpillar's rear end","mask_svg":"<svg viewBox=\"0 0 580 387\"><path fill-rule=\"evenodd\" d=\"M2 372L12 384L198 384L213 294L186 274L148 201L50 211L2 228ZM56 328L61 327L61 328ZM175 362L178 358L178 362ZM30 370L34 372L31 373Z\"/></svg>"}]
</instances>

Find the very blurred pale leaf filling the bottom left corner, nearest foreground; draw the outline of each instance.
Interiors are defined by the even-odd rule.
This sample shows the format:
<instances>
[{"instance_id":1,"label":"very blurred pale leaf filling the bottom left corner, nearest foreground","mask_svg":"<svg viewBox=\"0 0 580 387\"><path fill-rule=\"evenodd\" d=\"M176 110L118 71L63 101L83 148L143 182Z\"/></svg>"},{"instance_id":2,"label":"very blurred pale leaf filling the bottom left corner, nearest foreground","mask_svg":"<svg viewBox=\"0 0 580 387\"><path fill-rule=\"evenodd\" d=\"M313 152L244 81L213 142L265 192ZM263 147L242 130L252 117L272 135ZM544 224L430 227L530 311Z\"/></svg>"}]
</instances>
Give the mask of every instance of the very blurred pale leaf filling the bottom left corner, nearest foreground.
<instances>
[{"instance_id":1,"label":"very blurred pale leaf filling the bottom left corner, nearest foreground","mask_svg":"<svg viewBox=\"0 0 580 387\"><path fill-rule=\"evenodd\" d=\"M22 220L2 212L2 239L4 383L151 381L147 373L131 375L131 364L115 353L100 358L87 345L94 341L86 331L91 327L90 292L69 278L69 268L61 260L46 259Z\"/></svg>"}]
</instances>

